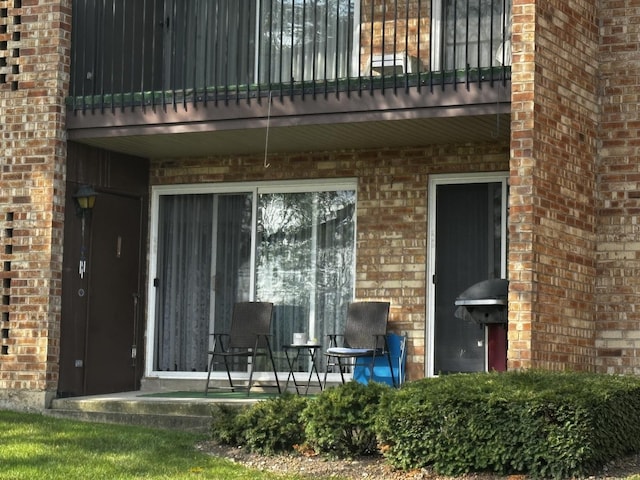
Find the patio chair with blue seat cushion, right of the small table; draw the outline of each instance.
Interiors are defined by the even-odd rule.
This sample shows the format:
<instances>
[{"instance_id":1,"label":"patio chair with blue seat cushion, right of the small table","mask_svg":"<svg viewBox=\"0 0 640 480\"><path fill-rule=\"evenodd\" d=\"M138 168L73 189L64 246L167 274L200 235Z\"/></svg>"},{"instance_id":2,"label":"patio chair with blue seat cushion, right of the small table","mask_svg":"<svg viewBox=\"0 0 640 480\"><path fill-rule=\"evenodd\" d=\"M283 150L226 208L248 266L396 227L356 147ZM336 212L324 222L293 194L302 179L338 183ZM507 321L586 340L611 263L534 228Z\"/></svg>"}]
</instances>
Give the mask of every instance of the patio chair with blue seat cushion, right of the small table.
<instances>
[{"instance_id":1,"label":"patio chair with blue seat cushion, right of the small table","mask_svg":"<svg viewBox=\"0 0 640 480\"><path fill-rule=\"evenodd\" d=\"M344 383L344 372L361 361L369 363L369 380L373 377L374 363L381 356L386 357L391 372L391 381L397 386L391 363L391 353L387 344L387 322L389 302L354 302L347 310L347 322L344 334L330 334L329 348L324 352L327 359L324 371L324 386L327 386L327 374L338 368ZM338 339L342 338L342 342ZM341 345L339 345L341 343Z\"/></svg>"}]
</instances>

